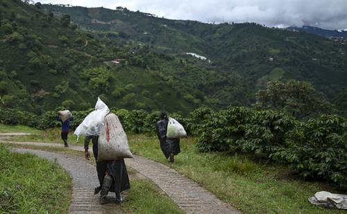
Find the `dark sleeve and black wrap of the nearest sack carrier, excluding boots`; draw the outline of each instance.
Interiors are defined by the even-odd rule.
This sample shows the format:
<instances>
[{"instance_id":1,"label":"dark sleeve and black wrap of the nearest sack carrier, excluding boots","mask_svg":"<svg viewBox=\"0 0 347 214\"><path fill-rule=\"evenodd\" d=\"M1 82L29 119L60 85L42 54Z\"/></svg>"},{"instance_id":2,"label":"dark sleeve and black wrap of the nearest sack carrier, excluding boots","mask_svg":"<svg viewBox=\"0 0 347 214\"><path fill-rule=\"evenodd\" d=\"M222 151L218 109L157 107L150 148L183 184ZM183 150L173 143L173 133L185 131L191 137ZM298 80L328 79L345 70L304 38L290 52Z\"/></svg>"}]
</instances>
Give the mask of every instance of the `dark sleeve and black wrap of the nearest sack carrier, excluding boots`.
<instances>
[{"instance_id":1,"label":"dark sleeve and black wrap of the nearest sack carrier, excluding boots","mask_svg":"<svg viewBox=\"0 0 347 214\"><path fill-rule=\"evenodd\" d=\"M95 160L98 159L98 140L99 136L85 136L85 149L88 148L88 144L92 139L93 153ZM103 177L105 173L112 177L113 182L110 188L110 192L121 193L123 190L130 188L130 182L128 177L128 171L126 170L126 164L124 159L114 161L96 161L96 172L98 173L98 179L100 186L95 188L95 193L99 193L103 184Z\"/></svg>"}]
</instances>

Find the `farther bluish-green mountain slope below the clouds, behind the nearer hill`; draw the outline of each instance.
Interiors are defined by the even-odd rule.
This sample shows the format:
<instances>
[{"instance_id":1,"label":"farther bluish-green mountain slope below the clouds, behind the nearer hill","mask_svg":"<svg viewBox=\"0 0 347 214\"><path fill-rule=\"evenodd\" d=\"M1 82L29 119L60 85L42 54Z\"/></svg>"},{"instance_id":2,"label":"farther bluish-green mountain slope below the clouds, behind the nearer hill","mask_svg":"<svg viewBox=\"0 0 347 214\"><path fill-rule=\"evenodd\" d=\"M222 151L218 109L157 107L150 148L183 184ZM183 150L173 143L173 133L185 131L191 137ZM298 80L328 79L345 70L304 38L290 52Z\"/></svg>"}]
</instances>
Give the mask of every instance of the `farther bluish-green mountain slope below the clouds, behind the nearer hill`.
<instances>
[{"instance_id":1,"label":"farther bluish-green mountain slope below the clouds, behind the nearer hill","mask_svg":"<svg viewBox=\"0 0 347 214\"><path fill-rule=\"evenodd\" d=\"M121 7L44 7L56 15L70 15L80 28L98 37L148 44L157 53L183 56L189 52L207 57L221 75L241 75L247 91L263 88L269 80L294 78L312 82L332 99L346 87L347 44L341 41L259 24L170 20Z\"/></svg>"}]
</instances>

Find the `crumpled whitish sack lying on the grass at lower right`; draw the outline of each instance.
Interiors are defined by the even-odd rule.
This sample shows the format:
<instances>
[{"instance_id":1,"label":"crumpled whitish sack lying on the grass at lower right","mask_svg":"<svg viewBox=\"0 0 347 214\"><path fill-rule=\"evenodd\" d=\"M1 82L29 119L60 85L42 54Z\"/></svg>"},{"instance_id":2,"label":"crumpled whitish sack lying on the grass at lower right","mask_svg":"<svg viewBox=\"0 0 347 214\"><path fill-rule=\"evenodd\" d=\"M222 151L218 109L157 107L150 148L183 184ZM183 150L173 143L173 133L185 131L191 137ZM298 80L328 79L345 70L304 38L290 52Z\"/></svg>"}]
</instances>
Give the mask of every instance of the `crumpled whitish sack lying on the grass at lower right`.
<instances>
[{"instance_id":1,"label":"crumpled whitish sack lying on the grass at lower right","mask_svg":"<svg viewBox=\"0 0 347 214\"><path fill-rule=\"evenodd\" d=\"M311 204L347 210L347 195L339 195L321 191L314 194L314 196L310 197L308 200L311 202Z\"/></svg>"}]
</instances>

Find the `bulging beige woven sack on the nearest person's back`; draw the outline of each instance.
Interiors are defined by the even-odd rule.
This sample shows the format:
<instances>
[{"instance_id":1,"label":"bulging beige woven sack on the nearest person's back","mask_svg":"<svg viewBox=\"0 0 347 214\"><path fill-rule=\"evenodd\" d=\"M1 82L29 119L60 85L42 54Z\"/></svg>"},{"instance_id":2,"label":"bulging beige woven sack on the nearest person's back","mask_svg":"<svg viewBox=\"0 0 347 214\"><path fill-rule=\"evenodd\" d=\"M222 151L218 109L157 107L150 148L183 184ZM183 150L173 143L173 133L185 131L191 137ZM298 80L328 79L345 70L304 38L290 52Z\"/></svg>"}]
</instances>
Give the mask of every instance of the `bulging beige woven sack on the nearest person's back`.
<instances>
[{"instance_id":1,"label":"bulging beige woven sack on the nearest person's back","mask_svg":"<svg viewBox=\"0 0 347 214\"><path fill-rule=\"evenodd\" d=\"M119 118L115 114L105 117L105 125L101 130L98 142L98 160L110 161L123 158L132 158L128 138Z\"/></svg>"}]
</instances>

